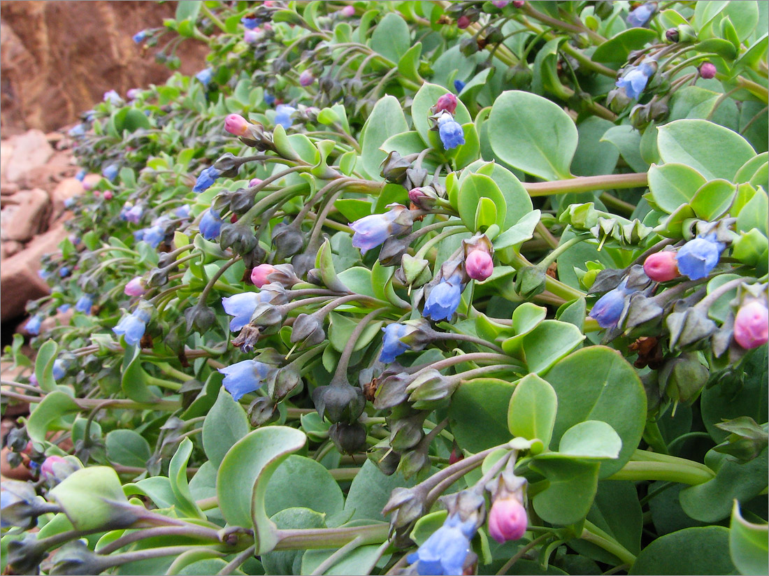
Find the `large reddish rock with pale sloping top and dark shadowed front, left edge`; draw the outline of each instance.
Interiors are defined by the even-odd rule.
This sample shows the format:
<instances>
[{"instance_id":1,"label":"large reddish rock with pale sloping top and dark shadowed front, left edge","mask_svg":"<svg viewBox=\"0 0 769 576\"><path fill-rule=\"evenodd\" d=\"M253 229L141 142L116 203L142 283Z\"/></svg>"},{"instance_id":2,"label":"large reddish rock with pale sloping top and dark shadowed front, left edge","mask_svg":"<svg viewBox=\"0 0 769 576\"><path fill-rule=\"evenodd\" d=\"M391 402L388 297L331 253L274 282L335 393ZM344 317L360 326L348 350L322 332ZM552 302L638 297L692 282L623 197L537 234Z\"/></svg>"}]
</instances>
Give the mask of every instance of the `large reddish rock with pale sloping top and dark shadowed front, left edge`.
<instances>
[{"instance_id":1,"label":"large reddish rock with pale sloping top and dark shadowed front, left edge","mask_svg":"<svg viewBox=\"0 0 769 576\"><path fill-rule=\"evenodd\" d=\"M49 293L48 284L38 276L40 258L58 251L58 243L67 235L64 224L59 223L32 240L24 250L3 261L0 266L0 321L22 316L28 301Z\"/></svg>"}]
</instances>

